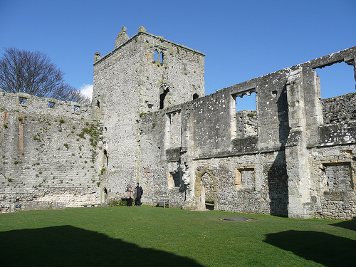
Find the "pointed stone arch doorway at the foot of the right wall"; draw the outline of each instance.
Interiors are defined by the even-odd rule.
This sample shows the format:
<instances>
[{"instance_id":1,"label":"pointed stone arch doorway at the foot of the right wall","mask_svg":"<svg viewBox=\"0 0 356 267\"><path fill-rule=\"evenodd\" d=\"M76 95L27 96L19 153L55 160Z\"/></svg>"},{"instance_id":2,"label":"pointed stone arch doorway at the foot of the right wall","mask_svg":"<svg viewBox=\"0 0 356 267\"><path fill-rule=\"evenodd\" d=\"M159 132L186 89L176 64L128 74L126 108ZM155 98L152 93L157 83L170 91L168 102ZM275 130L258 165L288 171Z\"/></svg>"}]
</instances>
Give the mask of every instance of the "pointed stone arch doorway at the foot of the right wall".
<instances>
[{"instance_id":1,"label":"pointed stone arch doorway at the foot of the right wall","mask_svg":"<svg viewBox=\"0 0 356 267\"><path fill-rule=\"evenodd\" d=\"M214 201L213 208L216 208L217 192L218 185L214 174L209 169L200 169L194 184L194 197L198 209L205 209L206 201Z\"/></svg>"}]
</instances>

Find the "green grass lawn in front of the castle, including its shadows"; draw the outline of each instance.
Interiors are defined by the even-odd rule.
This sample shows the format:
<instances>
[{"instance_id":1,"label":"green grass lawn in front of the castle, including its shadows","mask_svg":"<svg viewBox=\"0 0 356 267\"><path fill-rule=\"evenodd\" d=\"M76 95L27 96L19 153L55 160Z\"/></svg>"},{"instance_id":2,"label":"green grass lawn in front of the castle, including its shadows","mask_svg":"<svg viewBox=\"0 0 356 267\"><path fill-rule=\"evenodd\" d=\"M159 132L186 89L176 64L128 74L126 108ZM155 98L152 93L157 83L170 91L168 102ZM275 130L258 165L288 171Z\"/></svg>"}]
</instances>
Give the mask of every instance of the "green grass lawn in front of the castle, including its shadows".
<instances>
[{"instance_id":1,"label":"green grass lawn in front of the castle, including its shadows","mask_svg":"<svg viewBox=\"0 0 356 267\"><path fill-rule=\"evenodd\" d=\"M0 266L355 266L355 253L356 221L150 206L0 214Z\"/></svg>"}]
</instances>

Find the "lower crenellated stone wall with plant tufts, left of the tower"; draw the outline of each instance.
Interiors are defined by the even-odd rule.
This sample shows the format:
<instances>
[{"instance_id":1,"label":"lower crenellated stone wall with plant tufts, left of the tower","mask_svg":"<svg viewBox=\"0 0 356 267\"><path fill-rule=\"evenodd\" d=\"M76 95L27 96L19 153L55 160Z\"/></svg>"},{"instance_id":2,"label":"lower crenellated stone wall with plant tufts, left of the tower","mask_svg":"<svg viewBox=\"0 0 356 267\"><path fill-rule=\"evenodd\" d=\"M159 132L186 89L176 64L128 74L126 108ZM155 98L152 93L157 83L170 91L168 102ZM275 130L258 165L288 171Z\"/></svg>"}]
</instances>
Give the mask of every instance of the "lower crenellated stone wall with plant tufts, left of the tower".
<instances>
[{"instance_id":1,"label":"lower crenellated stone wall with plant tufts, left of the tower","mask_svg":"<svg viewBox=\"0 0 356 267\"><path fill-rule=\"evenodd\" d=\"M19 104L19 94L0 96L1 209L14 202L30 209L30 201L48 207L100 204L99 136L83 132L91 125L99 132L88 120L90 112L73 112L77 104L64 101L48 108L46 98L20 95L27 98L26 105Z\"/></svg>"}]
</instances>

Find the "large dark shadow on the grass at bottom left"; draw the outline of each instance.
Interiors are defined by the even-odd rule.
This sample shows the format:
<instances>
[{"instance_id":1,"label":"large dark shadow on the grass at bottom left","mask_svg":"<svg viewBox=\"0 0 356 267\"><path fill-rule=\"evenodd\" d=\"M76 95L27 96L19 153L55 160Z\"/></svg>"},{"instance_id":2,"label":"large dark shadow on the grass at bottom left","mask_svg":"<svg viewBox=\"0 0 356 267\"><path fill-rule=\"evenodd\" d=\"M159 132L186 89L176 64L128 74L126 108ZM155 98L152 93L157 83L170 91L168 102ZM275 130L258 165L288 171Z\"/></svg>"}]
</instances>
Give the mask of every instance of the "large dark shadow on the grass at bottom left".
<instances>
[{"instance_id":1,"label":"large dark shadow on the grass at bottom left","mask_svg":"<svg viewBox=\"0 0 356 267\"><path fill-rule=\"evenodd\" d=\"M73 226L0 232L0 251L1 266L201 266Z\"/></svg>"}]
</instances>

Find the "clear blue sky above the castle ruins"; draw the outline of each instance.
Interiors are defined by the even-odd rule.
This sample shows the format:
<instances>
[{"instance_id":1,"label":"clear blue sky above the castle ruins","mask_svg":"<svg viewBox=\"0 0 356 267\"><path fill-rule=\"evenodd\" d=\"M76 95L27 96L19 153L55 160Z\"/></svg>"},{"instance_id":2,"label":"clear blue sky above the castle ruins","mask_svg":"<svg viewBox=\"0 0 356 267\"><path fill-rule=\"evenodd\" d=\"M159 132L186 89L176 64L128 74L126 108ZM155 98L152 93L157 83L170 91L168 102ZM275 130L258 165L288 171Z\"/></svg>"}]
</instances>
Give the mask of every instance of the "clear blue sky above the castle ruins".
<instances>
[{"instance_id":1,"label":"clear blue sky above the castle ruins","mask_svg":"<svg viewBox=\"0 0 356 267\"><path fill-rule=\"evenodd\" d=\"M0 0L0 53L46 53L80 89L93 84L94 53L112 51L122 26L205 53L207 95L356 46L356 1ZM351 66L317 72L323 98L355 92ZM241 109L251 108L245 98Z\"/></svg>"}]
</instances>

